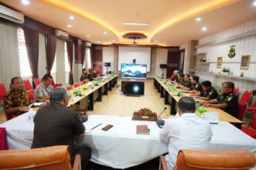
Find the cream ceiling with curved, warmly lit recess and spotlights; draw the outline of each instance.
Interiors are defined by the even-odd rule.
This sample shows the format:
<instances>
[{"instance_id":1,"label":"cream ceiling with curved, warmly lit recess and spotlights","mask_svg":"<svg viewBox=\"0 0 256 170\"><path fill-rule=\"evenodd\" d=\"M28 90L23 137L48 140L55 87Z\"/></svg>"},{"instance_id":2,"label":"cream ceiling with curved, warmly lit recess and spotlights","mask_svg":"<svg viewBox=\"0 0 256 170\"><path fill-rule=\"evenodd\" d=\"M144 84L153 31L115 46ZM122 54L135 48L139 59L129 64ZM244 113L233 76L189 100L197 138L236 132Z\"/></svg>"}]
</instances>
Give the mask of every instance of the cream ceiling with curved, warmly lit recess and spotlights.
<instances>
[{"instance_id":1,"label":"cream ceiling with curved, warmly lit recess and spotlights","mask_svg":"<svg viewBox=\"0 0 256 170\"><path fill-rule=\"evenodd\" d=\"M143 32L141 44L181 46L223 29L256 19L255 0L0 0L5 5L72 36L93 43L132 43L126 32ZM69 19L73 15L74 20ZM201 17L201 22L195 22ZM148 22L149 26L123 26ZM68 28L67 25L71 25ZM207 31L202 32L206 26ZM107 34L103 34L107 32ZM87 36L90 36L89 38ZM155 42L157 41L157 42Z\"/></svg>"}]
</instances>

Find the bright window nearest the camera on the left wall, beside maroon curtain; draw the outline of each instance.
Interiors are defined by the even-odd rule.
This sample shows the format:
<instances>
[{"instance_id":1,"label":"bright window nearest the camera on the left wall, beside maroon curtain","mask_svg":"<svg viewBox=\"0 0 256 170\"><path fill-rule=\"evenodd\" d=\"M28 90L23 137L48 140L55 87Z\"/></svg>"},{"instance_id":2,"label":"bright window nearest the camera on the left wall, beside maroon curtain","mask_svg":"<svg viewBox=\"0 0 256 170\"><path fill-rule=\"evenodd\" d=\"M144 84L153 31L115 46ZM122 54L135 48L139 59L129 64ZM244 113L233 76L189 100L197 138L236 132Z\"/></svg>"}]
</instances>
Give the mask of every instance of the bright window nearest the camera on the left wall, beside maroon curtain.
<instances>
[{"instance_id":1,"label":"bright window nearest the camera on the left wall, beside maroon curtain","mask_svg":"<svg viewBox=\"0 0 256 170\"><path fill-rule=\"evenodd\" d=\"M28 53L26 51L26 42L22 28L17 29L19 46L19 70L22 78L31 77L32 72L29 65Z\"/></svg>"}]
</instances>

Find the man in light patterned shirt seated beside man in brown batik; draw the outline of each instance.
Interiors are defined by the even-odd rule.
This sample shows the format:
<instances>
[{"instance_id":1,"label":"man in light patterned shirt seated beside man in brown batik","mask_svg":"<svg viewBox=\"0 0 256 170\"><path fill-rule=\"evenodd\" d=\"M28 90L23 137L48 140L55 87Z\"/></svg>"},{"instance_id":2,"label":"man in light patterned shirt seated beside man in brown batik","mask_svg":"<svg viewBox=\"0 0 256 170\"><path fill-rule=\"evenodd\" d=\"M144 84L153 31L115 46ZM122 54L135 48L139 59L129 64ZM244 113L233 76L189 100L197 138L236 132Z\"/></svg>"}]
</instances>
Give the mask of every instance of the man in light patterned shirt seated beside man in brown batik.
<instances>
[{"instance_id":1,"label":"man in light patterned shirt seated beside man in brown batik","mask_svg":"<svg viewBox=\"0 0 256 170\"><path fill-rule=\"evenodd\" d=\"M49 100L50 99L50 91L53 90L54 87L51 86L51 82L53 77L50 74L45 74L43 76L43 82L40 83L35 90L35 99L43 99Z\"/></svg>"}]
</instances>

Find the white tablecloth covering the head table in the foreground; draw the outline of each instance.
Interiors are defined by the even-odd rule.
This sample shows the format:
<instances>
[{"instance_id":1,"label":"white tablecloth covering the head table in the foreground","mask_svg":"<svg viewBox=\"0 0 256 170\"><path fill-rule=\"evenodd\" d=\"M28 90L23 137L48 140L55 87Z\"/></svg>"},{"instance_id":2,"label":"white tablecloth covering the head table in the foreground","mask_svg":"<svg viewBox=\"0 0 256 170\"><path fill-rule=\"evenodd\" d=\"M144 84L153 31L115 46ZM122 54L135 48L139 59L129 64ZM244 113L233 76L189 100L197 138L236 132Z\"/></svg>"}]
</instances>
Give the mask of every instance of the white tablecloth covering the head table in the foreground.
<instances>
[{"instance_id":1,"label":"white tablecloth covering the head table in the foreground","mask_svg":"<svg viewBox=\"0 0 256 170\"><path fill-rule=\"evenodd\" d=\"M7 130L9 149L30 148L33 140L33 121L22 114L11 121L0 124ZM101 124L99 127L95 127ZM109 131L102 131L112 124ZM137 134L136 125L147 124L150 135ZM91 161L112 168L128 168L140 165L168 151L168 146L159 140L161 131L155 122L131 121L131 117L90 115L85 122L85 141L92 148ZM232 124L220 122L212 124L213 138L210 149L213 151L247 150L256 153L256 141Z\"/></svg>"}]
</instances>

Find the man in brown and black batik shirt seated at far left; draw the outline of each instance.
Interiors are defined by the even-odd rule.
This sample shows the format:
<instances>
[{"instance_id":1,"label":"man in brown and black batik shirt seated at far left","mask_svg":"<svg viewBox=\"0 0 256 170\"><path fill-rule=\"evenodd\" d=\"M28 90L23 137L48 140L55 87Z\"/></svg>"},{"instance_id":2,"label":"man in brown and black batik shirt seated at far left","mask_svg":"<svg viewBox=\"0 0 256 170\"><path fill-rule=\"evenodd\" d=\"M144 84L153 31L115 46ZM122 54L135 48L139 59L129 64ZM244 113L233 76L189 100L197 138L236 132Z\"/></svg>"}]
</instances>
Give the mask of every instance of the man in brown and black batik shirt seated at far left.
<instances>
[{"instance_id":1,"label":"man in brown and black batik shirt seated at far left","mask_svg":"<svg viewBox=\"0 0 256 170\"><path fill-rule=\"evenodd\" d=\"M6 114L17 117L29 110L29 96L24 90L21 77L16 76L11 80L11 90L5 94L3 101Z\"/></svg>"}]
</instances>

